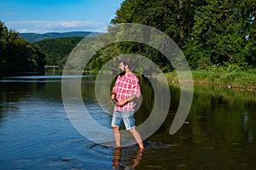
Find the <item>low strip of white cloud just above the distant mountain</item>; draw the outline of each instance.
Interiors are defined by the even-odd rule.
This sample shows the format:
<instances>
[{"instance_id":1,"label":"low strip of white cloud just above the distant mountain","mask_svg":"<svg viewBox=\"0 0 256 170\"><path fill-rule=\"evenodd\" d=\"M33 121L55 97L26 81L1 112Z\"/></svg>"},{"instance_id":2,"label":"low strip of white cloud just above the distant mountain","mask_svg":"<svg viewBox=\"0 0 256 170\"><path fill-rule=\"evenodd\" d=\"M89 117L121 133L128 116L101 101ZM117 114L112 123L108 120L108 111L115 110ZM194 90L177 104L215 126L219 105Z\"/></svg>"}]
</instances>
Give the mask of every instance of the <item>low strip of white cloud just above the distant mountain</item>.
<instances>
[{"instance_id":1,"label":"low strip of white cloud just above the distant mountain","mask_svg":"<svg viewBox=\"0 0 256 170\"><path fill-rule=\"evenodd\" d=\"M44 33L44 32L63 32L63 31L96 31L106 23L91 20L12 20L6 21L5 25L9 29L24 32Z\"/></svg>"}]
</instances>

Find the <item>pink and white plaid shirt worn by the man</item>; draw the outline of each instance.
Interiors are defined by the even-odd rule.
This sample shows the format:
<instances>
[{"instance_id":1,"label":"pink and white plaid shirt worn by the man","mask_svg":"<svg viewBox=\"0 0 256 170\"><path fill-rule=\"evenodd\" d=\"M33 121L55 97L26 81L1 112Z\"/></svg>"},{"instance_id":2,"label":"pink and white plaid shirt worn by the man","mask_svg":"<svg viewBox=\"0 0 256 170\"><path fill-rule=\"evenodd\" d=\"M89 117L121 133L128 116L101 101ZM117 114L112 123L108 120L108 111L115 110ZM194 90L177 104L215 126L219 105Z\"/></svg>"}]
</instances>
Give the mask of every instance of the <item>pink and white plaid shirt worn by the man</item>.
<instances>
[{"instance_id":1,"label":"pink and white plaid shirt worn by the man","mask_svg":"<svg viewBox=\"0 0 256 170\"><path fill-rule=\"evenodd\" d=\"M131 95L135 94L137 98L141 95L139 81L135 74L131 71L126 76L119 76L114 84L113 91L115 91L117 102L123 99L129 99ZM134 101L129 101L123 106L115 105L114 111L134 111Z\"/></svg>"}]
</instances>

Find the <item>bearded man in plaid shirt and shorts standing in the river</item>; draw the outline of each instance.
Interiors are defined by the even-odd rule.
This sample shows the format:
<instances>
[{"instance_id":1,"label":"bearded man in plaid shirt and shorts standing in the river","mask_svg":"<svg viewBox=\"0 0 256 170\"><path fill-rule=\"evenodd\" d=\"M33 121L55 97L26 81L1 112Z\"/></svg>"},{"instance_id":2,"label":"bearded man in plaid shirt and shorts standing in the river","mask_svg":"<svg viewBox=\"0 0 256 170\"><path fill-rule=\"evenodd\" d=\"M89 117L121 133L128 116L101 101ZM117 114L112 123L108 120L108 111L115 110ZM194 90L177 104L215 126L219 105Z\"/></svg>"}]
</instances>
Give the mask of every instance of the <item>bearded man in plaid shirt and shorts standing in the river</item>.
<instances>
[{"instance_id":1,"label":"bearded man in plaid shirt and shorts standing in the river","mask_svg":"<svg viewBox=\"0 0 256 170\"><path fill-rule=\"evenodd\" d=\"M119 63L119 69L122 71L117 78L111 99L116 102L113 111L113 118L111 126L113 127L113 137L116 147L121 146L121 133L119 127L125 123L126 130L132 134L136 139L140 148L144 148L143 139L140 133L137 132L134 118L134 106L136 105L134 99L141 94L139 81L135 74L130 70L129 62L123 60Z\"/></svg>"}]
</instances>

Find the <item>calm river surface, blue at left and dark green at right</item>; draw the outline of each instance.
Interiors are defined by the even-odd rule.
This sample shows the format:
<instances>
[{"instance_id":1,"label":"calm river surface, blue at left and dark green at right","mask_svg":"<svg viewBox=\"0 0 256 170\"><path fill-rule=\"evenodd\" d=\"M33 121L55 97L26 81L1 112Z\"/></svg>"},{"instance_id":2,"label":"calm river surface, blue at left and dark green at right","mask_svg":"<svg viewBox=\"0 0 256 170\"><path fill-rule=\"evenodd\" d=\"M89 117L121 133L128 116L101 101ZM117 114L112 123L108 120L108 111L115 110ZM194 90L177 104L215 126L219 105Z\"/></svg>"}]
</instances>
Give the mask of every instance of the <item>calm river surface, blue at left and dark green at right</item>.
<instances>
[{"instance_id":1,"label":"calm river surface, blue at left and dark green at right","mask_svg":"<svg viewBox=\"0 0 256 170\"><path fill-rule=\"evenodd\" d=\"M110 128L111 115L97 103L94 80L94 76L83 77L84 105L97 122ZM151 84L146 79L141 83L143 103L136 114L137 125L150 115L154 104ZM180 89L171 84L170 91L168 115L160 128L145 139L145 150L139 150L137 144L114 149L90 141L73 127L61 98L61 76L3 77L0 169L256 167L255 92L195 86L186 122L170 135Z\"/></svg>"}]
</instances>

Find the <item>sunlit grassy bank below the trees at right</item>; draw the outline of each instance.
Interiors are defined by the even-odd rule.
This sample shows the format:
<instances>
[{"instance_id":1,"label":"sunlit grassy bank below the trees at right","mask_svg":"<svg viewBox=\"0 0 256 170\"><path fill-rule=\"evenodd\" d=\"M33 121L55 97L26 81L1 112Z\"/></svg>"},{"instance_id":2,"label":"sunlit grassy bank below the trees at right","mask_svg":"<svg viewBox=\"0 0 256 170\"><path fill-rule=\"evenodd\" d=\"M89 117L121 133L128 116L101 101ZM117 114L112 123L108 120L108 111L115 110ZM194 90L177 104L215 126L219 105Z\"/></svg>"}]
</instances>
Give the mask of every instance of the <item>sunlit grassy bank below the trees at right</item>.
<instances>
[{"instance_id":1,"label":"sunlit grassy bank below the trees at right","mask_svg":"<svg viewBox=\"0 0 256 170\"><path fill-rule=\"evenodd\" d=\"M226 88L256 90L256 69L247 71L191 71L194 83L211 84ZM178 82L175 71L165 73L169 82Z\"/></svg>"}]
</instances>

